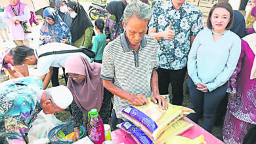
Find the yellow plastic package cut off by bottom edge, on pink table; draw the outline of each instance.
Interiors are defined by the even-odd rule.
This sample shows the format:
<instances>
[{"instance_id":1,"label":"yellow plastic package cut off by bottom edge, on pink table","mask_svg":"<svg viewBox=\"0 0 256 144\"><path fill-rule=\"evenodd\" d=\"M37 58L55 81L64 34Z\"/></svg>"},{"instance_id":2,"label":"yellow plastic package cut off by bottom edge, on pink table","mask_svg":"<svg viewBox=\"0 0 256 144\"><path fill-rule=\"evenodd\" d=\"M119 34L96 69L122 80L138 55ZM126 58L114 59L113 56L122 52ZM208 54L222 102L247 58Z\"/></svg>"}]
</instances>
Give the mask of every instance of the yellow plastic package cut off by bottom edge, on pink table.
<instances>
[{"instance_id":1,"label":"yellow plastic package cut off by bottom edge, on pink table","mask_svg":"<svg viewBox=\"0 0 256 144\"><path fill-rule=\"evenodd\" d=\"M182 136L174 136L171 137L168 141L166 141L165 144L173 144L173 143L179 143L179 144L206 144L206 141L204 141L203 135L200 135L199 137L196 137L195 139L188 139L186 137Z\"/></svg>"}]
</instances>

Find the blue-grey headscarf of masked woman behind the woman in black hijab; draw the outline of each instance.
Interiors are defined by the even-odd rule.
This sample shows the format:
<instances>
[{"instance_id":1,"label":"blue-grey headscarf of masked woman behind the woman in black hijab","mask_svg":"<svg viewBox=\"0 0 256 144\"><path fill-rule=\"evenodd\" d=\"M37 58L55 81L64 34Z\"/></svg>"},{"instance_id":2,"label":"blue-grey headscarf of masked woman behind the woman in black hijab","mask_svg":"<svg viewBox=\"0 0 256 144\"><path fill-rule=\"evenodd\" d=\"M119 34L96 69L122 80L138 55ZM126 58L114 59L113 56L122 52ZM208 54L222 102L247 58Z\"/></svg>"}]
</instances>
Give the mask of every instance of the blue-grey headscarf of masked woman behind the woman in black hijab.
<instances>
[{"instance_id":1,"label":"blue-grey headscarf of masked woman behind the woman in black hijab","mask_svg":"<svg viewBox=\"0 0 256 144\"><path fill-rule=\"evenodd\" d=\"M70 12L66 12L63 13L60 11L60 5L62 4L62 2L65 1L66 4L68 3L67 0L55 0L55 5L56 5L56 12L58 13L58 15L60 16L60 18L62 19L62 21L68 26L71 27L71 23L72 23L72 17L70 16Z\"/></svg>"}]
</instances>

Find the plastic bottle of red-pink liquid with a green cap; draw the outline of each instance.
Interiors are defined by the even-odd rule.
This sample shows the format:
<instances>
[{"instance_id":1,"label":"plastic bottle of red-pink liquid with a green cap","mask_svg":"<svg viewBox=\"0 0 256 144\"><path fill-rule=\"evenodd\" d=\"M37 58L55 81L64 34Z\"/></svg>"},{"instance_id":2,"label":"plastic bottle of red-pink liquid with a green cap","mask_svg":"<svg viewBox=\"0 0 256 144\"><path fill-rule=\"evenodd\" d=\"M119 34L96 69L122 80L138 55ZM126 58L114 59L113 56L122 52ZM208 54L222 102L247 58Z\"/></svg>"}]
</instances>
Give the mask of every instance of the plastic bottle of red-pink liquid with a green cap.
<instances>
[{"instance_id":1,"label":"plastic bottle of red-pink liquid with a green cap","mask_svg":"<svg viewBox=\"0 0 256 144\"><path fill-rule=\"evenodd\" d=\"M88 120L87 130L89 132L89 138L95 144L102 144L105 141L104 125L98 115L97 109L91 109L89 111Z\"/></svg>"}]
</instances>

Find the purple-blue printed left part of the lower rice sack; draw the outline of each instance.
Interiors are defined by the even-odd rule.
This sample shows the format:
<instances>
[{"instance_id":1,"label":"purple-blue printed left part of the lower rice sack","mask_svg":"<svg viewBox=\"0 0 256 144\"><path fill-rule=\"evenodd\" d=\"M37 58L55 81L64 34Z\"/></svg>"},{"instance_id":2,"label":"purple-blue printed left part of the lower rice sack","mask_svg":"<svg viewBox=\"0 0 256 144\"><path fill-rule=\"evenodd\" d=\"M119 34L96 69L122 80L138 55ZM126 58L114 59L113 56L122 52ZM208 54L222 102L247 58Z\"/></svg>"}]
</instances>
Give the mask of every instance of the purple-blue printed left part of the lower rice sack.
<instances>
[{"instance_id":1,"label":"purple-blue printed left part of the lower rice sack","mask_svg":"<svg viewBox=\"0 0 256 144\"><path fill-rule=\"evenodd\" d=\"M150 137L148 137L148 135L146 135L144 132L142 132L142 130L140 130L140 128L135 126L129 120L127 120L126 122L123 122L121 124L121 129L124 130L125 132L131 134L133 139L135 139L135 141L139 144L140 143L141 144L152 144L153 143L153 141L150 139Z\"/></svg>"}]
</instances>

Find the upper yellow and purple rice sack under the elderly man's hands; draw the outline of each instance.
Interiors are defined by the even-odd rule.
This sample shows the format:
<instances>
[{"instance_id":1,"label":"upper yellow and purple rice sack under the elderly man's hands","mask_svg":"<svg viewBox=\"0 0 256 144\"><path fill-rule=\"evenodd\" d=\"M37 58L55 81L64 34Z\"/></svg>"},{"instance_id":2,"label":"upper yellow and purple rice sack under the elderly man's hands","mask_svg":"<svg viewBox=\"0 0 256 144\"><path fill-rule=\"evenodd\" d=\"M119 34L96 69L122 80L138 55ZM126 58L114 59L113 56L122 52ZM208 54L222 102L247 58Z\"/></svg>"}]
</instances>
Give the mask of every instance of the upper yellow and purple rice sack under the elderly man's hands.
<instances>
[{"instance_id":1,"label":"upper yellow and purple rice sack under the elderly man's hands","mask_svg":"<svg viewBox=\"0 0 256 144\"><path fill-rule=\"evenodd\" d=\"M123 109L121 113L148 137L152 137L153 141L156 141L171 124L190 113L194 113L192 109L170 103L168 103L168 109L163 110L150 99L148 98L148 105L130 106Z\"/></svg>"}]
</instances>

